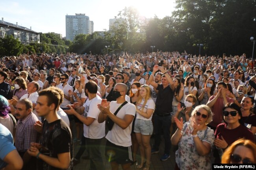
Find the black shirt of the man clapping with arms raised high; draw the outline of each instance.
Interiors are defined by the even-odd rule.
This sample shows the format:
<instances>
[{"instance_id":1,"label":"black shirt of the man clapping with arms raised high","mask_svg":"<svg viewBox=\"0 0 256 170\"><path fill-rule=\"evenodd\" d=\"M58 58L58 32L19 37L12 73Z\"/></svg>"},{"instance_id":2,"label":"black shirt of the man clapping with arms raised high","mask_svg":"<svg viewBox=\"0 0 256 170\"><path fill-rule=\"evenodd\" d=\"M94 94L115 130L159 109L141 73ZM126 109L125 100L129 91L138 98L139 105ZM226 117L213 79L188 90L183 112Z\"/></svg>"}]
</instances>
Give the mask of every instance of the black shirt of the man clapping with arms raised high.
<instances>
[{"instance_id":1,"label":"black shirt of the man clapping with arms raised high","mask_svg":"<svg viewBox=\"0 0 256 170\"><path fill-rule=\"evenodd\" d=\"M174 92L170 86L163 88L163 84L158 84L156 88L158 95L156 98L156 114L167 114L173 112L173 96Z\"/></svg>"}]
</instances>

